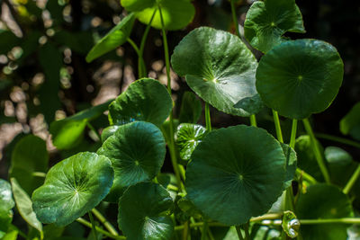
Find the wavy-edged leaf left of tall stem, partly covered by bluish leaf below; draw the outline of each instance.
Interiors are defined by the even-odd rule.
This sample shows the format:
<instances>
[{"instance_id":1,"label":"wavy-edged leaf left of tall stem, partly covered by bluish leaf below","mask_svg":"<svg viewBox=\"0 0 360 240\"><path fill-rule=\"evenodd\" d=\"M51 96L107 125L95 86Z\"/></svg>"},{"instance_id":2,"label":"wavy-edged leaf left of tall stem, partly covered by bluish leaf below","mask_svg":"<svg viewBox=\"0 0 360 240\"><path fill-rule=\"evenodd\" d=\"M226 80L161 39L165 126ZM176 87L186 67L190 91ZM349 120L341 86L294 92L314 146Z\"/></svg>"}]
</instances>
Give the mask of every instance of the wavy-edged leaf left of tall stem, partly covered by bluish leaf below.
<instances>
[{"instance_id":1,"label":"wavy-edged leaf left of tall stem, partly covered by bluish leaf below","mask_svg":"<svg viewBox=\"0 0 360 240\"><path fill-rule=\"evenodd\" d=\"M121 125L135 120L151 122L157 127L169 116L173 102L166 87L157 80L142 78L121 93L109 106L109 121Z\"/></svg>"}]
</instances>

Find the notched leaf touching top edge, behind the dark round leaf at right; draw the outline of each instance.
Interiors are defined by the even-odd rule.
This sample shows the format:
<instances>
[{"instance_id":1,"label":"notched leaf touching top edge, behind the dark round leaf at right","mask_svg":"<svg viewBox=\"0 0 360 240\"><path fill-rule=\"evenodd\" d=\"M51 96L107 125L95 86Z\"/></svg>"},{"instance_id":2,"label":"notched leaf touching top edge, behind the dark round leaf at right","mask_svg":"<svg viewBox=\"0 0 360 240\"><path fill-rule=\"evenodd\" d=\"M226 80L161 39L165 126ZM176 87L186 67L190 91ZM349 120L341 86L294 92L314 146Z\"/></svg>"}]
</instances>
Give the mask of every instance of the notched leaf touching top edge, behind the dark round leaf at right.
<instances>
[{"instance_id":1,"label":"notched leaf touching top edge, behind the dark round leaf at right","mask_svg":"<svg viewBox=\"0 0 360 240\"><path fill-rule=\"evenodd\" d=\"M305 32L295 0L257 1L247 11L244 34L255 49L268 52L284 41L286 31Z\"/></svg>"}]
</instances>

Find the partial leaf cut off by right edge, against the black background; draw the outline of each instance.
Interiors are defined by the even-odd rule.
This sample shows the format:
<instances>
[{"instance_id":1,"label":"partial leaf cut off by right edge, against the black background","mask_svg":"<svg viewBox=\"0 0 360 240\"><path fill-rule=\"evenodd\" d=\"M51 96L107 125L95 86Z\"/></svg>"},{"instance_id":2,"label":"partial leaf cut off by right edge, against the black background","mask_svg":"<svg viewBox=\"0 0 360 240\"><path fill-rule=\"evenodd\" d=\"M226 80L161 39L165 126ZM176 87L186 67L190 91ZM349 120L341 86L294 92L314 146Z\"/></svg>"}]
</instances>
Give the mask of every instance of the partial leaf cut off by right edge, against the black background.
<instances>
[{"instance_id":1,"label":"partial leaf cut off by right edge, against the black background","mask_svg":"<svg viewBox=\"0 0 360 240\"><path fill-rule=\"evenodd\" d=\"M357 102L340 120L340 131L342 134L350 134L353 138L360 140L360 102Z\"/></svg>"}]
</instances>

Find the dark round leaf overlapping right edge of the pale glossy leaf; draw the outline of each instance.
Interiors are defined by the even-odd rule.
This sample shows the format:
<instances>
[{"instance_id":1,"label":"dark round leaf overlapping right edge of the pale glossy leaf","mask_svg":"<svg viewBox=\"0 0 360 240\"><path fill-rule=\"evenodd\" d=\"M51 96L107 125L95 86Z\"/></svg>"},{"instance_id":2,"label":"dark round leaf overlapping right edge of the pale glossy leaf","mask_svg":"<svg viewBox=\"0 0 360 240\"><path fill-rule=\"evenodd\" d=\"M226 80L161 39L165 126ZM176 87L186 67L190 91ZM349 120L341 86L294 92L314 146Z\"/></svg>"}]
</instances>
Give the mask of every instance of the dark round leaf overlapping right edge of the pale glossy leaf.
<instances>
[{"instance_id":1,"label":"dark round leaf overlapping right edge of the pale glossy leaf","mask_svg":"<svg viewBox=\"0 0 360 240\"><path fill-rule=\"evenodd\" d=\"M302 120L329 107L343 74L343 62L329 43L289 40L261 58L257 91L268 107Z\"/></svg>"}]
</instances>

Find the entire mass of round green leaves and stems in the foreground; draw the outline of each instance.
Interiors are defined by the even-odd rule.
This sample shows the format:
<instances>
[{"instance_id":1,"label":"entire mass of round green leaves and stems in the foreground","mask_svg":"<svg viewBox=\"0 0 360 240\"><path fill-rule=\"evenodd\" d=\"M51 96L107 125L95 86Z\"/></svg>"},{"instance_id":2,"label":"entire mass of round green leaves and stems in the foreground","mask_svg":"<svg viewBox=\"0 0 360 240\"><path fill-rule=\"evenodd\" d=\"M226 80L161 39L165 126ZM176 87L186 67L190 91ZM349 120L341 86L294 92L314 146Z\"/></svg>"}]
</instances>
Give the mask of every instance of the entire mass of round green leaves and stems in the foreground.
<instances>
[{"instance_id":1,"label":"entire mass of round green leaves and stems in the foreground","mask_svg":"<svg viewBox=\"0 0 360 240\"><path fill-rule=\"evenodd\" d=\"M193 4L121 4L129 15L86 60L129 41L139 55L139 80L112 102L51 124L54 145L68 149L82 138L85 126L91 127L91 120L108 110L110 126L103 129L93 152L77 151L48 171L45 142L32 135L19 141L11 184L0 182L0 237L21 234L11 224L16 203L37 230L33 238L40 239L65 239L61 231L74 221L92 227L95 239L347 239L348 224L360 222L353 218L360 167L341 148L324 150L308 120L335 99L344 67L329 43L284 37L287 31L305 31L294 0L257 1L250 7L245 38L264 53L259 62L239 33L201 27L179 42L171 65L197 96L184 94L178 119L172 111L166 31L191 22ZM148 25L139 47L130 40L136 19ZM143 42L150 27L163 33L167 89L142 77L147 72ZM197 124L202 111L198 97L205 102L205 127ZM211 129L209 105L249 117L252 126ZM256 114L265 106L274 113L277 138L257 127ZM293 120L288 145L278 114ZM359 115L356 105L340 122L344 134L358 137ZM307 135L296 138L298 120ZM166 145L175 174L160 173ZM122 235L94 209L104 202L117 204ZM96 226L92 212L104 228ZM82 218L85 213L91 223Z\"/></svg>"}]
</instances>

